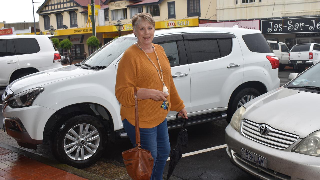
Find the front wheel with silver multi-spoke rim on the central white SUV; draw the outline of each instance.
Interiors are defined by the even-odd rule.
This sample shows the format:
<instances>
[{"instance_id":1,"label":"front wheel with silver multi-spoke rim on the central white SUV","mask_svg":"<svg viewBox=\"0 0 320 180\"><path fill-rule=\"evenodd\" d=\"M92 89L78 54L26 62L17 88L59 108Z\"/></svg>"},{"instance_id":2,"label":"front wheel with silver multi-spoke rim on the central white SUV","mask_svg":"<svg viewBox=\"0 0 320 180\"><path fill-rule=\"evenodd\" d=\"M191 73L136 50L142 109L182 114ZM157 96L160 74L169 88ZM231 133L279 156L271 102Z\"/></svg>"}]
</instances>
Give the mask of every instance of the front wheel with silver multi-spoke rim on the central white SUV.
<instances>
[{"instance_id":1,"label":"front wheel with silver multi-spoke rim on the central white SUV","mask_svg":"<svg viewBox=\"0 0 320 180\"><path fill-rule=\"evenodd\" d=\"M82 135L79 135L80 129ZM50 146L53 156L60 162L84 168L100 158L106 143L107 134L103 124L96 117L84 114L62 124L57 133L53 133Z\"/></svg>"}]
</instances>

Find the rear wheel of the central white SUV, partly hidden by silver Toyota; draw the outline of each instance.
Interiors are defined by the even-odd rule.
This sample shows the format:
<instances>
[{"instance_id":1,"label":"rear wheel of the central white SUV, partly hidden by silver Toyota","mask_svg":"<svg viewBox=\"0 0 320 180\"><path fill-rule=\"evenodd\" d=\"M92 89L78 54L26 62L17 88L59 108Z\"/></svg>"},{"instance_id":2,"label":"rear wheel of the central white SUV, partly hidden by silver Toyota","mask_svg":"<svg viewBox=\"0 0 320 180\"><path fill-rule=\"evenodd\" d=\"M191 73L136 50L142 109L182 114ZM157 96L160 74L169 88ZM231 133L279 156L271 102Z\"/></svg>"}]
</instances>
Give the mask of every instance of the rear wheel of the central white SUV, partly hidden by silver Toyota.
<instances>
[{"instance_id":1,"label":"rear wheel of the central white SUV, partly hidden by silver Toyota","mask_svg":"<svg viewBox=\"0 0 320 180\"><path fill-rule=\"evenodd\" d=\"M231 97L228 110L227 110L227 122L230 123L233 114L239 109L243 104L251 101L252 99L260 96L261 93L254 88L245 88L236 93L233 97Z\"/></svg>"}]
</instances>

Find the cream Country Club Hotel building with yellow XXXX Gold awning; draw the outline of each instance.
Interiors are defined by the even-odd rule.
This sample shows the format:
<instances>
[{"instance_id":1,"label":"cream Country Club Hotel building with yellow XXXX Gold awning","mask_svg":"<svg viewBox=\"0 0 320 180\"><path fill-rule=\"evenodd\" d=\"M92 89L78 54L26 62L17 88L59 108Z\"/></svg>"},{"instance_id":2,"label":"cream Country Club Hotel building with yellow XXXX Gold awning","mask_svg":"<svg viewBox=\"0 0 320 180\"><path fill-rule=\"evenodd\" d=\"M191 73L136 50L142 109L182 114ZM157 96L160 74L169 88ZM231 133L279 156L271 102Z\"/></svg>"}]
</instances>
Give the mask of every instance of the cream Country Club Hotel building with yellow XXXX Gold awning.
<instances>
[{"instance_id":1,"label":"cream Country Club Hotel building with yellow XXXX Gold awning","mask_svg":"<svg viewBox=\"0 0 320 180\"><path fill-rule=\"evenodd\" d=\"M40 31L60 40L69 38L74 46L71 53L76 59L89 54L86 40L92 36L91 9L88 0L46 0L37 13ZM156 21L156 29L198 27L199 21L216 21L216 0L95 0L95 31L101 45L119 36L118 20L124 24L121 35L131 34L134 14L148 12Z\"/></svg>"}]
</instances>

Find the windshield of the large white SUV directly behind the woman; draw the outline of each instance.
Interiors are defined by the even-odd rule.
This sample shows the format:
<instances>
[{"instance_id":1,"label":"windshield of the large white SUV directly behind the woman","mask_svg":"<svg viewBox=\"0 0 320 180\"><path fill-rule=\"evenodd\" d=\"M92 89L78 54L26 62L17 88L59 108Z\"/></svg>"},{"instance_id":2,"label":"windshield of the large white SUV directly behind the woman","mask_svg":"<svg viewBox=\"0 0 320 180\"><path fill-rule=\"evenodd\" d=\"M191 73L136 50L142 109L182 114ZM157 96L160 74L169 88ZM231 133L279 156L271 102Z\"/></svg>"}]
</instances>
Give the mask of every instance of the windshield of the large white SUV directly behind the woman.
<instances>
[{"instance_id":1,"label":"windshield of the large white SUV directly behind the woman","mask_svg":"<svg viewBox=\"0 0 320 180\"><path fill-rule=\"evenodd\" d=\"M137 42L137 38L116 38L76 65L84 65L85 69L93 67L106 68L135 42Z\"/></svg>"}]
</instances>

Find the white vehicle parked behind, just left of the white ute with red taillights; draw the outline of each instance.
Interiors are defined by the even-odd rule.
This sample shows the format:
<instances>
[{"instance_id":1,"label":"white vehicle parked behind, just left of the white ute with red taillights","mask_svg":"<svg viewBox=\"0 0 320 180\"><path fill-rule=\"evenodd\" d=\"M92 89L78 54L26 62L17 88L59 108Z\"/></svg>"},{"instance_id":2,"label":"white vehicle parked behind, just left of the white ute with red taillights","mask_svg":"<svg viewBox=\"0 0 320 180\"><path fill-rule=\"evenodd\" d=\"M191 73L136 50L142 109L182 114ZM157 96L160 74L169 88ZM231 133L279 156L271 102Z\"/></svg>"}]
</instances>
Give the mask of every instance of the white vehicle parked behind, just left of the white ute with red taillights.
<instances>
[{"instance_id":1,"label":"white vehicle parked behind, just left of the white ute with red taillights","mask_svg":"<svg viewBox=\"0 0 320 180\"><path fill-rule=\"evenodd\" d=\"M268 41L273 53L276 57L279 58L280 66L279 70L284 70L286 66L293 67L292 64L289 64L289 48L285 43L278 41Z\"/></svg>"}]
</instances>

